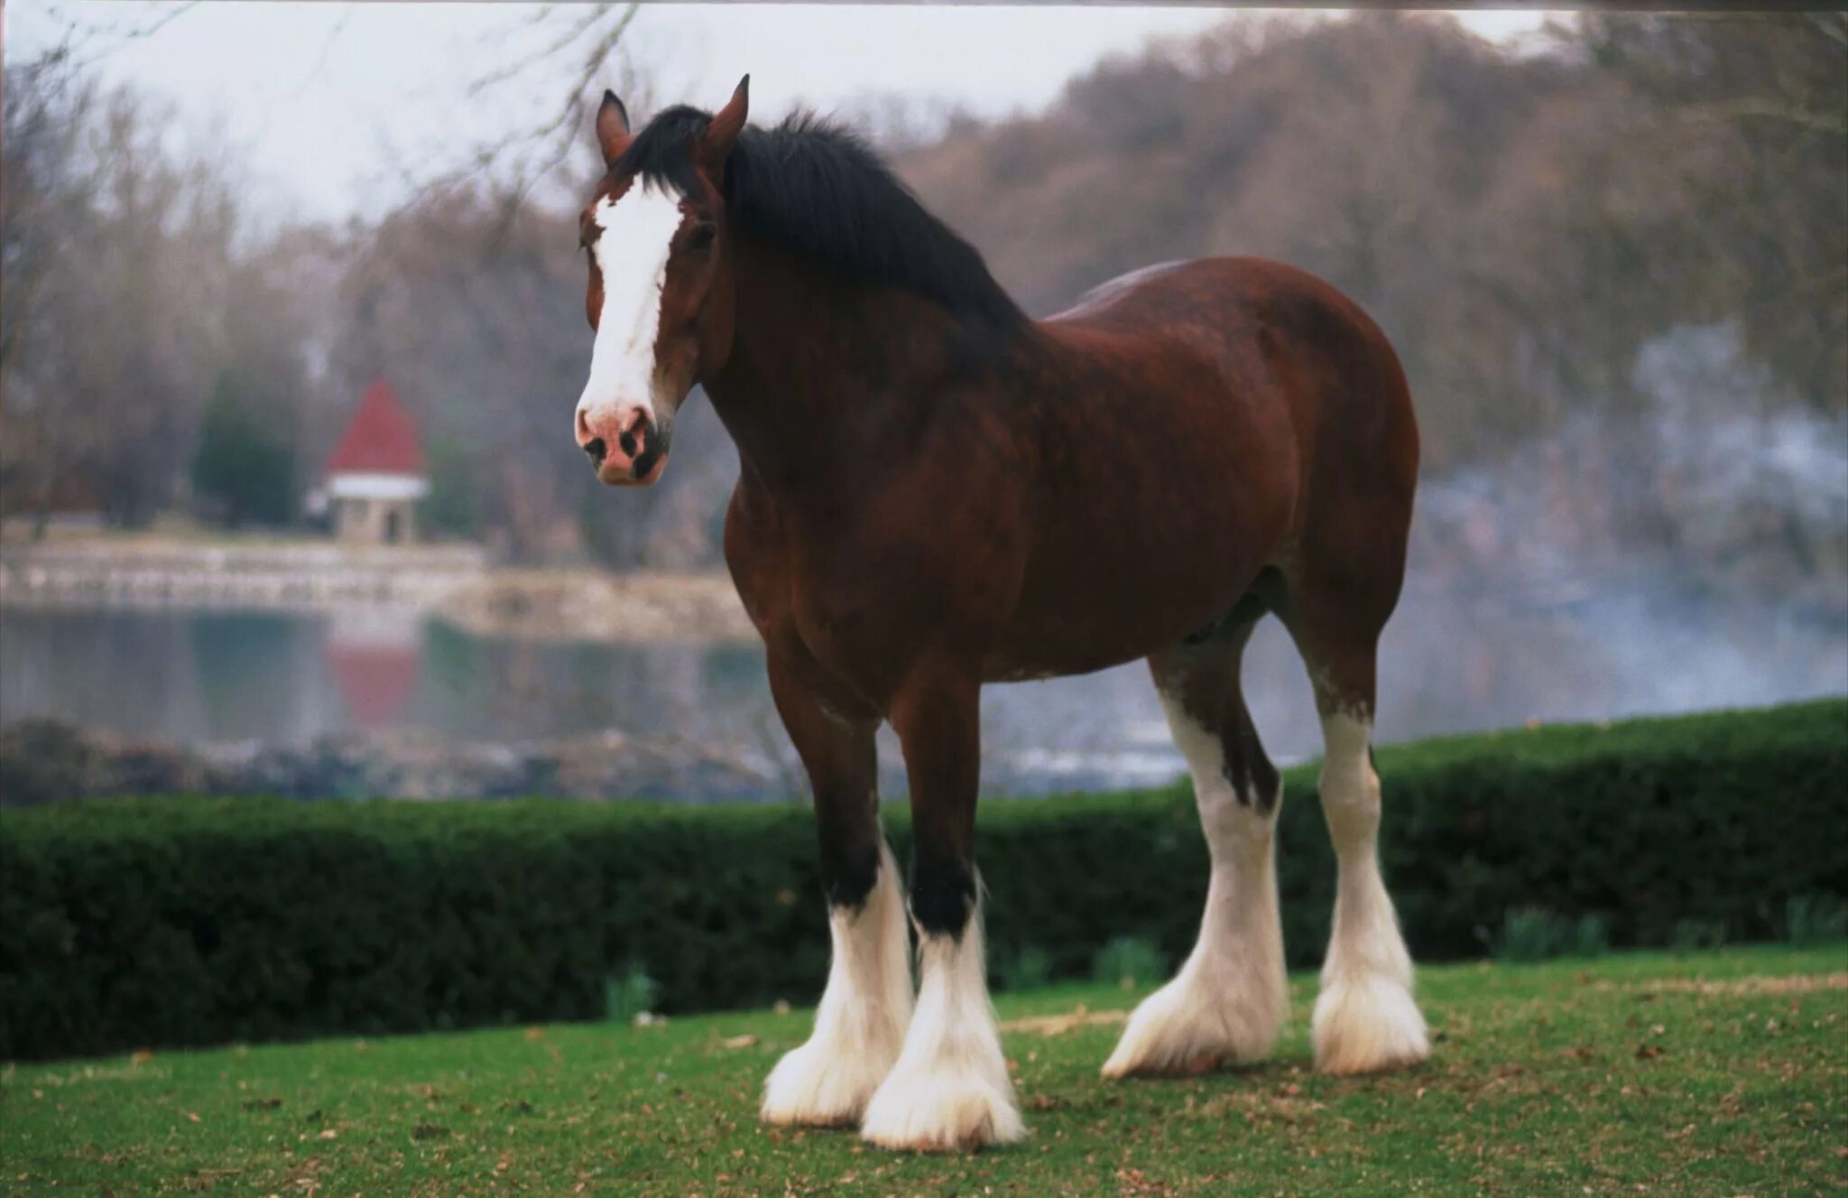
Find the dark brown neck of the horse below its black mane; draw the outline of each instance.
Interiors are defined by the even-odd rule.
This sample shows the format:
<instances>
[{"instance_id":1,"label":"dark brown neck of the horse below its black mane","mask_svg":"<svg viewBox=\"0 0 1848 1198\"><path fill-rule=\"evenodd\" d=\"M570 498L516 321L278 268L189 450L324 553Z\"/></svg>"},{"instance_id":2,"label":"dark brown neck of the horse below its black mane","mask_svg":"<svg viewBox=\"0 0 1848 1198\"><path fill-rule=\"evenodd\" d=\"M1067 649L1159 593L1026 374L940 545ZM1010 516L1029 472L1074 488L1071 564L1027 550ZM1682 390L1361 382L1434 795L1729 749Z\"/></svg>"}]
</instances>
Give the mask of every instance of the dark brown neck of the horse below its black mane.
<instances>
[{"instance_id":1,"label":"dark brown neck of the horse below its black mane","mask_svg":"<svg viewBox=\"0 0 1848 1198\"><path fill-rule=\"evenodd\" d=\"M952 381L970 333L939 305L843 279L734 237L734 336L704 379L748 475L826 495L841 471L887 458Z\"/></svg>"}]
</instances>

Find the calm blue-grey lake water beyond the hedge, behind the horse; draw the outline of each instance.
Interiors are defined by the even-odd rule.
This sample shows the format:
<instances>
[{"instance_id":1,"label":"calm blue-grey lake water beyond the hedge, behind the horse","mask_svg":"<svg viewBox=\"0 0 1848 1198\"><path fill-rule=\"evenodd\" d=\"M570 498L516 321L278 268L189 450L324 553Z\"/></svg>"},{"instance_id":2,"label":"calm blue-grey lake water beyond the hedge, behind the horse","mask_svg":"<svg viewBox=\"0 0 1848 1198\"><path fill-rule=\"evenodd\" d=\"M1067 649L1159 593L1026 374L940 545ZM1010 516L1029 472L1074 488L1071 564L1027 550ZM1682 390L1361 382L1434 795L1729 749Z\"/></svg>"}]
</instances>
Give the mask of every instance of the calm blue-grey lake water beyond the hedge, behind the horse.
<instances>
[{"instance_id":1,"label":"calm blue-grey lake water beyond the hedge, behind the horse","mask_svg":"<svg viewBox=\"0 0 1848 1198\"><path fill-rule=\"evenodd\" d=\"M1382 645L1379 728L1392 741L1844 690L1841 621L1687 599L1660 582L1550 605L1414 592ZM1319 752L1308 684L1275 621L1246 654L1246 693L1273 758ZM765 799L795 776L756 645L538 643L377 606L9 606L0 721L28 715L183 745L329 734L480 745L617 728L774 760ZM881 736L896 791L896 741ZM1166 782L1183 769L1140 664L991 686L983 741L985 793Z\"/></svg>"}]
</instances>

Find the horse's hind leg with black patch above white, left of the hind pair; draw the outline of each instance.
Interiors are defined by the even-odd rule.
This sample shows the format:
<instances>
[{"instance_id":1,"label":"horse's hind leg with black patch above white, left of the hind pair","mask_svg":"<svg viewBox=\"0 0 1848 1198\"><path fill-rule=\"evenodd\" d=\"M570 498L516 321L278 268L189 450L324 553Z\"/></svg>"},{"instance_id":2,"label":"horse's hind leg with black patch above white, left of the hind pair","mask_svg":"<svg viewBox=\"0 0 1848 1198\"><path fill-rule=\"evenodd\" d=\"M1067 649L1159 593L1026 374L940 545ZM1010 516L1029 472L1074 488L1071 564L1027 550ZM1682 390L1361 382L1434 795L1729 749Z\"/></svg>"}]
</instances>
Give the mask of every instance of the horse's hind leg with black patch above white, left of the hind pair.
<instances>
[{"instance_id":1,"label":"horse's hind leg with black patch above white, left of the hind pair","mask_svg":"<svg viewBox=\"0 0 1848 1198\"><path fill-rule=\"evenodd\" d=\"M1173 741L1194 775L1212 873L1199 941L1168 985L1142 1000L1105 1078L1201 1072L1270 1052L1290 1011L1271 830L1283 782L1238 690L1255 616L1149 656Z\"/></svg>"}]
</instances>

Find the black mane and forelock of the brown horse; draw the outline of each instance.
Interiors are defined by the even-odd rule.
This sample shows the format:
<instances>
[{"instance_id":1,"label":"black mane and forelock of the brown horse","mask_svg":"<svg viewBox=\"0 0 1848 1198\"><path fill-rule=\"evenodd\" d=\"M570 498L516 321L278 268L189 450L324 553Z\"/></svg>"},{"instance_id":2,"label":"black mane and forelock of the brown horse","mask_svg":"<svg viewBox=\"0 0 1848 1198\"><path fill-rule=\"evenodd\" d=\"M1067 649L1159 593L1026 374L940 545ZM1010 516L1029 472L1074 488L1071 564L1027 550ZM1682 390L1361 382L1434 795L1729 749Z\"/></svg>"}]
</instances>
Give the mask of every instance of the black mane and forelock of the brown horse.
<instances>
[{"instance_id":1,"label":"black mane and forelock of the brown horse","mask_svg":"<svg viewBox=\"0 0 1848 1198\"><path fill-rule=\"evenodd\" d=\"M710 120L711 113L693 107L665 109L614 170L695 194L687 150ZM974 246L924 211L857 135L813 113L774 129L747 126L726 161L723 192L754 235L841 274L915 290L1000 329L1026 324Z\"/></svg>"}]
</instances>

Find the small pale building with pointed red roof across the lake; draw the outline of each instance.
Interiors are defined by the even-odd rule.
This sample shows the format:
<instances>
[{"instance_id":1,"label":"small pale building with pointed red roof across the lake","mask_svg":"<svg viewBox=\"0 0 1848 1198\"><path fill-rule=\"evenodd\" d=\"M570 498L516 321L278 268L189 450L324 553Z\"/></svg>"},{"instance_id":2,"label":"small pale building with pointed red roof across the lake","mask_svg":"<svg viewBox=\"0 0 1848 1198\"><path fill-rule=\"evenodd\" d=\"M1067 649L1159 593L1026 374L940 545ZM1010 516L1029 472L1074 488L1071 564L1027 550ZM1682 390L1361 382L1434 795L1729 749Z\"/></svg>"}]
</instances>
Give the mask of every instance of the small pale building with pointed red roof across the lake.
<instances>
[{"instance_id":1,"label":"small pale building with pointed red roof across the lake","mask_svg":"<svg viewBox=\"0 0 1848 1198\"><path fill-rule=\"evenodd\" d=\"M334 536L371 545L408 544L416 540L416 503L429 490L418 425L392 385L377 379L327 458Z\"/></svg>"}]
</instances>

